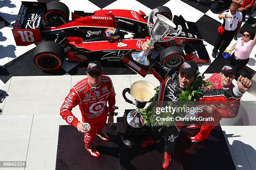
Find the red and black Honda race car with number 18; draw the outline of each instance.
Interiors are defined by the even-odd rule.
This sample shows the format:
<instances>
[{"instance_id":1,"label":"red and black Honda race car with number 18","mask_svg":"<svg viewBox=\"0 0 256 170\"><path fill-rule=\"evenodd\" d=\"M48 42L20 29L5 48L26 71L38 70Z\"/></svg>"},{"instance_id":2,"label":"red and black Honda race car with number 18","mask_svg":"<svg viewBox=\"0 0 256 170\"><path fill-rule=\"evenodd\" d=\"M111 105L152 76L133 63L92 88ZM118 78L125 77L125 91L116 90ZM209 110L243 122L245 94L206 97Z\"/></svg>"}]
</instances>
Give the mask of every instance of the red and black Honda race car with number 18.
<instances>
[{"instance_id":1,"label":"red and black Honda race car with number 18","mask_svg":"<svg viewBox=\"0 0 256 170\"><path fill-rule=\"evenodd\" d=\"M172 69L179 69L185 60L209 62L204 39L195 23L187 22L182 16L173 18L168 7L156 8L156 14L182 25L182 33L174 40L156 42L159 56L155 60ZM130 50L140 51L146 38L150 38L147 16L142 11L74 11L69 21L69 8L59 1L47 4L23 1L12 32L16 45L37 44L33 60L42 70L57 70L65 59L118 64ZM173 36L168 35L164 40Z\"/></svg>"}]
</instances>

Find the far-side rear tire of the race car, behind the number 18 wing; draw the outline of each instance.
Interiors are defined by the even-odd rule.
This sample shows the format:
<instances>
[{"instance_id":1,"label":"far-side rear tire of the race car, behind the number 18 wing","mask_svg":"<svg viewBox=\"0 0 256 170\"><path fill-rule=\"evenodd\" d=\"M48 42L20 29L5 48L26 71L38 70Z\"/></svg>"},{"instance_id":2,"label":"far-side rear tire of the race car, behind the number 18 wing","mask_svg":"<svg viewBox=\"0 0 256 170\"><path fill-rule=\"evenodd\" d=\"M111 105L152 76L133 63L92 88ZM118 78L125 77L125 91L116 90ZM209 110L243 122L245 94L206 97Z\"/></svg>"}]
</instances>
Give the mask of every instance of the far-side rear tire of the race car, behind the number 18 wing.
<instances>
[{"instance_id":1,"label":"far-side rear tire of the race car, behind the number 18 wing","mask_svg":"<svg viewBox=\"0 0 256 170\"><path fill-rule=\"evenodd\" d=\"M66 22L69 21L69 8L67 5L59 1L51 1L46 5L47 12L44 14L44 20L48 25L52 27L63 25L64 22L60 17L62 17Z\"/></svg>"}]
</instances>

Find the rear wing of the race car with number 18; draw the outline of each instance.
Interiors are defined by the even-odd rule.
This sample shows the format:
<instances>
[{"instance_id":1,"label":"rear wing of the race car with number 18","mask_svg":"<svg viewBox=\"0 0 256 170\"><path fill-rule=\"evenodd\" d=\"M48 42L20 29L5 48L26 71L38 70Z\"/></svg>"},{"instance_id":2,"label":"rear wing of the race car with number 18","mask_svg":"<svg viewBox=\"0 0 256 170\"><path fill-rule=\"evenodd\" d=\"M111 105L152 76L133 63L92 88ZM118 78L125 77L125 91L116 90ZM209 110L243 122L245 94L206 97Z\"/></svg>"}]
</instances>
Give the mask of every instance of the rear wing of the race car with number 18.
<instances>
[{"instance_id":1,"label":"rear wing of the race car with number 18","mask_svg":"<svg viewBox=\"0 0 256 170\"><path fill-rule=\"evenodd\" d=\"M22 1L12 30L16 45L30 45L41 41L41 27L47 11L45 2Z\"/></svg>"}]
</instances>

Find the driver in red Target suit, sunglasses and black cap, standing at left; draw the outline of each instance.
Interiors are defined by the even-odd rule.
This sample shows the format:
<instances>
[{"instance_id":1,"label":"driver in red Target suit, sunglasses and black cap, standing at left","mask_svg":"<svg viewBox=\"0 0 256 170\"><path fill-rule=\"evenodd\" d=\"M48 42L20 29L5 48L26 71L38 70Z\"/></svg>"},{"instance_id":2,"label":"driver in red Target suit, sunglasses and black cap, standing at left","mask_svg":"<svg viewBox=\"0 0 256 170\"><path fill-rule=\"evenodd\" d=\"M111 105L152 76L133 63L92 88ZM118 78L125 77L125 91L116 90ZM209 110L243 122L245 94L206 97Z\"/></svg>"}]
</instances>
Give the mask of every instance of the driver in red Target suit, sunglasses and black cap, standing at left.
<instances>
[{"instance_id":1,"label":"driver in red Target suit, sunglasses and black cap, standing at left","mask_svg":"<svg viewBox=\"0 0 256 170\"><path fill-rule=\"evenodd\" d=\"M106 125L108 112L108 126L113 124L115 91L110 77L102 75L100 62L89 63L87 76L70 90L61 106L60 115L69 125L84 133L85 148L90 155L99 158L100 153L94 148L92 141L96 135L104 141L109 141L108 135L102 132L102 128ZM82 113L82 122L79 122L71 112L76 105L79 105ZM89 131L86 132L84 124L90 124Z\"/></svg>"}]
</instances>

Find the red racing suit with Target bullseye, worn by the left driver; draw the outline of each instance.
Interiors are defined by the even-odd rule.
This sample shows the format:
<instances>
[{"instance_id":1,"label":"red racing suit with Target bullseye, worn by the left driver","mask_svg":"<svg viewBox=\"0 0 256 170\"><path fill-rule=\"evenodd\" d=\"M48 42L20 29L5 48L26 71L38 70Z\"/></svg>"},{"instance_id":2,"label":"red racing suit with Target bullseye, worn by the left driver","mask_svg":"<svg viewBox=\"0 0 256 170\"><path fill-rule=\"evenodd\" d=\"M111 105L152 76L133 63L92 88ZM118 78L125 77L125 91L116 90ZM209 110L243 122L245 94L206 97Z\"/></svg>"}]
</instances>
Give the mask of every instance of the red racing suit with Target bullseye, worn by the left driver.
<instances>
[{"instance_id":1,"label":"red racing suit with Target bullseye, worn by the left driver","mask_svg":"<svg viewBox=\"0 0 256 170\"><path fill-rule=\"evenodd\" d=\"M90 130L84 133L84 143L90 146L96 133L105 127L108 112L115 111L115 91L110 77L102 75L98 87L91 87L88 78L85 78L70 90L61 106L60 115L74 127L79 122L71 112L76 105L79 105L82 113L82 122L90 124Z\"/></svg>"}]
</instances>

